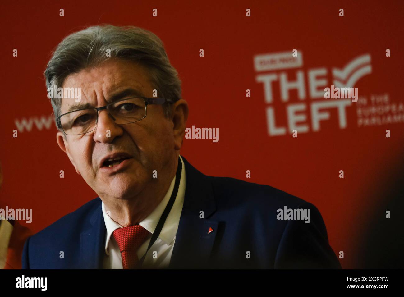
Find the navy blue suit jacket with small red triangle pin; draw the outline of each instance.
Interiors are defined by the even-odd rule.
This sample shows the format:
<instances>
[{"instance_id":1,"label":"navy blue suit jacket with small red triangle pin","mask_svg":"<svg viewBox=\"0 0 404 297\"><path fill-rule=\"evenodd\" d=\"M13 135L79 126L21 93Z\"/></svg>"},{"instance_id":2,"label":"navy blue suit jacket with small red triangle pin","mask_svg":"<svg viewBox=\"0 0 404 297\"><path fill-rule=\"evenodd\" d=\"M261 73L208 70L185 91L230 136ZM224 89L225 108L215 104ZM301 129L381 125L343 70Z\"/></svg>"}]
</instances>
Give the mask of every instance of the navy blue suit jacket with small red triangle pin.
<instances>
[{"instance_id":1,"label":"navy blue suit jacket with small red triangle pin","mask_svg":"<svg viewBox=\"0 0 404 297\"><path fill-rule=\"evenodd\" d=\"M341 268L316 206L269 185L206 176L182 158L187 182L169 268ZM311 209L310 223L278 220L284 206ZM28 238L22 266L102 268L105 234L95 198Z\"/></svg>"}]
</instances>

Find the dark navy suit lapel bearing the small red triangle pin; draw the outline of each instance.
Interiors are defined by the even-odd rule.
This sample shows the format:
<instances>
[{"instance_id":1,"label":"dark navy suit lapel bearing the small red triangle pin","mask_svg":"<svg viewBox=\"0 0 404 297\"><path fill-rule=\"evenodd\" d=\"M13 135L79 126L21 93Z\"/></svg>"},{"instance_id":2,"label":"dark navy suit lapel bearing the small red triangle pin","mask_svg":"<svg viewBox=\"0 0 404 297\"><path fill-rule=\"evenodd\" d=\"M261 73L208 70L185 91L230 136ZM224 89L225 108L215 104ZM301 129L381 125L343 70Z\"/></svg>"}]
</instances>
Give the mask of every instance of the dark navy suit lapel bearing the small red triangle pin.
<instances>
[{"instance_id":1,"label":"dark navy suit lapel bearing the small red triangle pin","mask_svg":"<svg viewBox=\"0 0 404 297\"><path fill-rule=\"evenodd\" d=\"M216 211L212 184L181 156L185 164L185 197L169 268L203 268L215 242L218 221L209 220ZM200 211L204 217L200 218ZM213 229L209 233L209 228Z\"/></svg>"}]
</instances>

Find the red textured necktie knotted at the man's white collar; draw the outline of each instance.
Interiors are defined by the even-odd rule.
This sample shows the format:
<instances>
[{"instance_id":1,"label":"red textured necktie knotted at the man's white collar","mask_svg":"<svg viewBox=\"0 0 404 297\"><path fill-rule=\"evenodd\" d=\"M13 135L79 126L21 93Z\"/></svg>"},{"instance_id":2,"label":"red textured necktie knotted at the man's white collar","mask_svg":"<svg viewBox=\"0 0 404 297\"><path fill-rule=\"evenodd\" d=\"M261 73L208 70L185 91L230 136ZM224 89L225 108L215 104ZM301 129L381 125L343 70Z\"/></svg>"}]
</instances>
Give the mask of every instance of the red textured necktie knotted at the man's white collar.
<instances>
[{"instance_id":1,"label":"red textured necktie knotted at the man's white collar","mask_svg":"<svg viewBox=\"0 0 404 297\"><path fill-rule=\"evenodd\" d=\"M150 232L141 225L132 225L118 228L112 234L121 251L123 269L136 268L136 264L139 261L136 251L145 242Z\"/></svg>"}]
</instances>

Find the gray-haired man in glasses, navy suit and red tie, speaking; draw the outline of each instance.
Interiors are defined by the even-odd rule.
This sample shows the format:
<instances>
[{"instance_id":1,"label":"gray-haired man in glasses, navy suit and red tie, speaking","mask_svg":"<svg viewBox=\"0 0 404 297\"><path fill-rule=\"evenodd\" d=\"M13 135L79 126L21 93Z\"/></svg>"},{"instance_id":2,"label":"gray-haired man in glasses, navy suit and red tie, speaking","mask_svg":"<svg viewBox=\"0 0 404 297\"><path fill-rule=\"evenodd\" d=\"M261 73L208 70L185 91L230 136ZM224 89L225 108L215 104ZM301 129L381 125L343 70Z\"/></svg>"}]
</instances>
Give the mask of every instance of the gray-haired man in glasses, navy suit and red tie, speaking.
<instances>
[{"instance_id":1,"label":"gray-haired man in glasses, navy suit and red tie, speaking","mask_svg":"<svg viewBox=\"0 0 404 297\"><path fill-rule=\"evenodd\" d=\"M76 32L45 78L49 92L81 92L53 92L57 143L99 197L30 237L23 268L341 268L314 205L180 156L188 105L153 33Z\"/></svg>"}]
</instances>

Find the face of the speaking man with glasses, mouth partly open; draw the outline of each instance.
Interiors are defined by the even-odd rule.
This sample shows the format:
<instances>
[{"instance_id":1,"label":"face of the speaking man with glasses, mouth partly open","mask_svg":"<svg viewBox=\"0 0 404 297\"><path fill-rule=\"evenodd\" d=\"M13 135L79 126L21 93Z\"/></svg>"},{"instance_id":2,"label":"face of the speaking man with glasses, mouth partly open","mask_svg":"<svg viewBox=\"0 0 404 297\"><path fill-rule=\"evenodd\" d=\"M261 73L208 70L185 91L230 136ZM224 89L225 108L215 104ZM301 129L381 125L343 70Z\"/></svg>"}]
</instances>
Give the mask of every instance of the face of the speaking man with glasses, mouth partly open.
<instances>
[{"instance_id":1,"label":"face of the speaking man with glasses, mouth partly open","mask_svg":"<svg viewBox=\"0 0 404 297\"><path fill-rule=\"evenodd\" d=\"M81 101L62 99L61 114L72 105L104 106L111 102L111 97L129 88L137 90L143 97L153 97L154 89L143 66L122 60L109 60L71 74L63 87L80 87ZM120 99L130 97L136 96L126 95ZM110 137L107 137L108 130ZM115 124L107 110L102 110L94 131L67 135L66 139L63 133L57 133L59 146L88 185L99 196L118 199L128 199L145 186L157 183L153 171L156 170L160 177L160 173L168 169L176 150L181 147L182 137L183 133L175 131L173 120L164 117L162 105L147 105L145 118L125 125ZM120 164L113 167L103 166L105 158L119 158L120 155L130 158L122 162L118 160Z\"/></svg>"}]
</instances>

